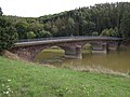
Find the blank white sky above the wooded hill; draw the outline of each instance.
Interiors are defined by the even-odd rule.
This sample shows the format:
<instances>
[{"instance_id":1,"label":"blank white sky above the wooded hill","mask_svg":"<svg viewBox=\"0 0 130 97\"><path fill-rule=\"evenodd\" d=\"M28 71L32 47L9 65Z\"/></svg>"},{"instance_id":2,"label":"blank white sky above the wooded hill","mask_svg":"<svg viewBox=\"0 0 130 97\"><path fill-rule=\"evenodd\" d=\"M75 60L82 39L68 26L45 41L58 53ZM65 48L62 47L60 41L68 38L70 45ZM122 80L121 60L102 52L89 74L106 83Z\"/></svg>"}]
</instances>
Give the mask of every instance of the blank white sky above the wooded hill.
<instances>
[{"instance_id":1,"label":"blank white sky above the wooded hill","mask_svg":"<svg viewBox=\"0 0 130 97\"><path fill-rule=\"evenodd\" d=\"M130 0L0 0L4 15L39 17L95 3L120 2Z\"/></svg>"}]
</instances>

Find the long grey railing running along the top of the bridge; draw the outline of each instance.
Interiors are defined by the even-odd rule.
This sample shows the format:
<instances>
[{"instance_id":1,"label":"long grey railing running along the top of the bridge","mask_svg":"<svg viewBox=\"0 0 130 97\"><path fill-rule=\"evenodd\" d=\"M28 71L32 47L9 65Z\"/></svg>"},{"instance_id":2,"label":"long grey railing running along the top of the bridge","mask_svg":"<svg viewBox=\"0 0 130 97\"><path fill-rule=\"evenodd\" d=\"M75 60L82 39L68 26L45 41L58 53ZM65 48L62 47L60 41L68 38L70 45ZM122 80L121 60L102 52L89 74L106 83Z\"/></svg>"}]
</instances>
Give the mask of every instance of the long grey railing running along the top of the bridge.
<instances>
[{"instance_id":1,"label":"long grey railing running along the top of the bridge","mask_svg":"<svg viewBox=\"0 0 130 97\"><path fill-rule=\"evenodd\" d=\"M51 37L51 38L38 38L38 39L23 39L23 40L18 40L17 42L32 42L32 41L48 41L48 40L67 40L67 39L74 39L74 40L78 40L78 39L108 39L108 40L113 40L113 39L117 39L120 40L121 38L115 38L115 37L90 37L90 36L78 36L78 37Z\"/></svg>"}]
</instances>

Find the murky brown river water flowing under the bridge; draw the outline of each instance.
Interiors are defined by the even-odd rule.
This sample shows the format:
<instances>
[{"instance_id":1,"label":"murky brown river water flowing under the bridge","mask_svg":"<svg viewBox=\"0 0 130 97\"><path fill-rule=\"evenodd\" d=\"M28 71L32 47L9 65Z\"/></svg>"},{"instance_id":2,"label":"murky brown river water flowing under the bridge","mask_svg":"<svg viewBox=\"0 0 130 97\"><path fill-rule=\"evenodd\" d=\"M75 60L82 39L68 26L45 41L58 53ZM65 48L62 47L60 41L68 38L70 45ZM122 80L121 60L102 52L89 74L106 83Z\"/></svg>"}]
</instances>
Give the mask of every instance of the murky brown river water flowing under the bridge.
<instances>
[{"instance_id":1,"label":"murky brown river water flowing under the bridge","mask_svg":"<svg viewBox=\"0 0 130 97\"><path fill-rule=\"evenodd\" d=\"M44 50L36 60L43 64L50 64L55 67L69 68L104 68L119 72L130 72L130 52L109 52L108 54L82 53L82 59L69 59L64 57L62 50Z\"/></svg>"}]
</instances>

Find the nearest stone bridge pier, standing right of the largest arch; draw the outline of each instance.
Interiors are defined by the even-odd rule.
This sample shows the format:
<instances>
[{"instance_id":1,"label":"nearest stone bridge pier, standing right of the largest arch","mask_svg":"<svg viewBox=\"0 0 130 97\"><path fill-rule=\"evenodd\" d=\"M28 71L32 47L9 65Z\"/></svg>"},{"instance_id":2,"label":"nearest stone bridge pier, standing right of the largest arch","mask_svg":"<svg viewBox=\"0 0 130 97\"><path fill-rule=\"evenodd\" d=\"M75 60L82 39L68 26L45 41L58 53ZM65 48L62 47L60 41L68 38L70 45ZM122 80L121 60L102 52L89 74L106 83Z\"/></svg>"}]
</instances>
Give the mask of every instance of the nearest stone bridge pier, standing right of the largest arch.
<instances>
[{"instance_id":1,"label":"nearest stone bridge pier, standing right of the largest arch","mask_svg":"<svg viewBox=\"0 0 130 97\"><path fill-rule=\"evenodd\" d=\"M73 51L69 51L69 50L65 51L65 57L66 58L78 58L78 59L81 59L82 58L81 46L78 45Z\"/></svg>"}]
</instances>

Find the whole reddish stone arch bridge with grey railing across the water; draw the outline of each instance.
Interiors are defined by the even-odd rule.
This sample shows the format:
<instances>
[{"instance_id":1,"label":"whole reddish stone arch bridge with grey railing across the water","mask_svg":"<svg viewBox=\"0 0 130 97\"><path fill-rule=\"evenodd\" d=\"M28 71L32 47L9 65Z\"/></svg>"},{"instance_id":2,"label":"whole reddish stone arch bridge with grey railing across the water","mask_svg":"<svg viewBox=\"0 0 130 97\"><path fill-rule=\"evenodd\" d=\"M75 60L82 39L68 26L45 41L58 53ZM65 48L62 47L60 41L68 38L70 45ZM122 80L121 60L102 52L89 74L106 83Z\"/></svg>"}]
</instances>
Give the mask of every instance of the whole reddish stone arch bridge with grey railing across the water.
<instances>
[{"instance_id":1,"label":"whole reddish stone arch bridge with grey railing across the water","mask_svg":"<svg viewBox=\"0 0 130 97\"><path fill-rule=\"evenodd\" d=\"M15 47L10 50L20 57L32 60L38 53L51 46L60 46L65 51L65 57L82 58L81 48L90 43L93 53L107 53L117 50L120 38L114 37L57 37L42 39L18 40Z\"/></svg>"}]
</instances>

